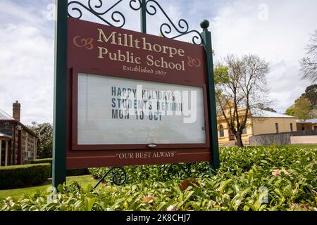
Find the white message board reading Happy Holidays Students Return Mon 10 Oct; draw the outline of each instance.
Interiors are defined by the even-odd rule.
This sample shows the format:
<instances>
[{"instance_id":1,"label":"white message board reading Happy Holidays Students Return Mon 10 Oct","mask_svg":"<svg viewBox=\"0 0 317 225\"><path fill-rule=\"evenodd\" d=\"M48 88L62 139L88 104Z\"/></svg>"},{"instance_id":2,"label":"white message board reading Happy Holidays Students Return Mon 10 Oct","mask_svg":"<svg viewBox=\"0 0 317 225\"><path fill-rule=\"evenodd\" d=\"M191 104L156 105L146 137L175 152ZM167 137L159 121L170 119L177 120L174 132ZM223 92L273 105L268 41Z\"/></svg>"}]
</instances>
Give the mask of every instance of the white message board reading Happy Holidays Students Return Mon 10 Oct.
<instances>
[{"instance_id":1,"label":"white message board reading Happy Holidays Students Return Mon 10 Oct","mask_svg":"<svg viewBox=\"0 0 317 225\"><path fill-rule=\"evenodd\" d=\"M78 145L206 143L201 87L78 75Z\"/></svg>"}]
</instances>

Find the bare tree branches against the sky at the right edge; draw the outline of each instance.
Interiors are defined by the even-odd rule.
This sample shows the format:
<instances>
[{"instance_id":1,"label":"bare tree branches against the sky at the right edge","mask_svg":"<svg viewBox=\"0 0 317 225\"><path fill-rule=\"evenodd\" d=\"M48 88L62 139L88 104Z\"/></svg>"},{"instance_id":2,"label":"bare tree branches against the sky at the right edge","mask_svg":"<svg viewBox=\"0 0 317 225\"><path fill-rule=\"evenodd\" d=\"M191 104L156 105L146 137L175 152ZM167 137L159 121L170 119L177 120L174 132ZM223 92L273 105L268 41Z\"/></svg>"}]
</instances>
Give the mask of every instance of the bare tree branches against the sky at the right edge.
<instances>
[{"instance_id":1,"label":"bare tree branches against the sky at the right edge","mask_svg":"<svg viewBox=\"0 0 317 225\"><path fill-rule=\"evenodd\" d=\"M317 30L311 34L310 43L306 47L306 57L299 62L301 64L302 78L317 81Z\"/></svg>"}]
</instances>

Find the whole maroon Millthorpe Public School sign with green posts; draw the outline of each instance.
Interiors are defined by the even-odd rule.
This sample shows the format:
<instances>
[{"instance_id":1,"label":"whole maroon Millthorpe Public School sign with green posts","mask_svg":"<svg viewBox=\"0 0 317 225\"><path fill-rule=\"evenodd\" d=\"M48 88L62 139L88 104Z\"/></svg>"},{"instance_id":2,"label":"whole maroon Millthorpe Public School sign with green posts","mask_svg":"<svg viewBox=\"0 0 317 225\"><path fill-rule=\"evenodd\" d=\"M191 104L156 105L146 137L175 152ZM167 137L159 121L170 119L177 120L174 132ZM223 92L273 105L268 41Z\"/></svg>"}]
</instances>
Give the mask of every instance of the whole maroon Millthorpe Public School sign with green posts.
<instances>
[{"instance_id":1,"label":"whole maroon Millthorpe Public School sign with green posts","mask_svg":"<svg viewBox=\"0 0 317 225\"><path fill-rule=\"evenodd\" d=\"M70 4L57 5L54 186L66 168L207 161L216 169L209 23L204 45L189 44L72 18Z\"/></svg>"}]
</instances>

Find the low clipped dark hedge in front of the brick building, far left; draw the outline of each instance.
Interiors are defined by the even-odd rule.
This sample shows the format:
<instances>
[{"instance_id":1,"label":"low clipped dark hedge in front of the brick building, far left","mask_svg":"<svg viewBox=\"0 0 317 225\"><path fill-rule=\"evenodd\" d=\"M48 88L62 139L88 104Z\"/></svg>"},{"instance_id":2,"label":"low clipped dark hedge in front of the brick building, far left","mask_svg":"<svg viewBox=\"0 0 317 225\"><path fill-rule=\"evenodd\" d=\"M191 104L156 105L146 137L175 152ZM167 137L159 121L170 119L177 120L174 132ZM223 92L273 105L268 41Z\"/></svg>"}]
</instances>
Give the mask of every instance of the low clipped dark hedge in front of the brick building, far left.
<instances>
[{"instance_id":1,"label":"low clipped dark hedge in front of the brick building, far left","mask_svg":"<svg viewBox=\"0 0 317 225\"><path fill-rule=\"evenodd\" d=\"M39 185L46 181L50 174L49 163L0 167L0 189Z\"/></svg>"}]
</instances>

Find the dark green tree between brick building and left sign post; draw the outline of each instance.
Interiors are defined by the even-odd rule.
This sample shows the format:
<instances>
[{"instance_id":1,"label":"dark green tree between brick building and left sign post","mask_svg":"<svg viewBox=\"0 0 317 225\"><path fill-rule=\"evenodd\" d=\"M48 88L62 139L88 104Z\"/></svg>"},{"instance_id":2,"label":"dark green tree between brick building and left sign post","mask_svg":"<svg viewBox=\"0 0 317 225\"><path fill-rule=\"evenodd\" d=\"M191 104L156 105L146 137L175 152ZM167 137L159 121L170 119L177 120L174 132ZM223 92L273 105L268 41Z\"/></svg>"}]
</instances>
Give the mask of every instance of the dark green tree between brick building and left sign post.
<instances>
[{"instance_id":1,"label":"dark green tree between brick building and left sign post","mask_svg":"<svg viewBox=\"0 0 317 225\"><path fill-rule=\"evenodd\" d=\"M32 126L29 128L38 135L37 158L52 158L53 126L49 123L37 124L37 122L32 122Z\"/></svg>"}]
</instances>

